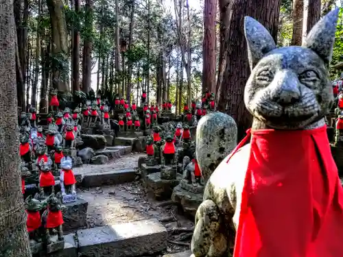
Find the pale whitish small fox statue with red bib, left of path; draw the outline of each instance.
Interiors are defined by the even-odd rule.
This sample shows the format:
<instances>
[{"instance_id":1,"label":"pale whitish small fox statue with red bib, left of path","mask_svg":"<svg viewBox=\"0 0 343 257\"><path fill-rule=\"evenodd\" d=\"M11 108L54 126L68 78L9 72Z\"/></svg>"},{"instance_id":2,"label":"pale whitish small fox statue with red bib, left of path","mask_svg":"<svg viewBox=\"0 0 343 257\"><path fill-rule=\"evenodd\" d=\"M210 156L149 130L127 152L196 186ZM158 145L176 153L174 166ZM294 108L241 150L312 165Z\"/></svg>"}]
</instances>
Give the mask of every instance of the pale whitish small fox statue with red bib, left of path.
<instances>
[{"instance_id":1,"label":"pale whitish small fox statue with red bib, left of path","mask_svg":"<svg viewBox=\"0 0 343 257\"><path fill-rule=\"evenodd\" d=\"M62 196L76 195L75 176L71 168L73 167L73 160L69 156L64 156L61 160L60 170L60 184ZM64 202L64 201L63 201Z\"/></svg>"}]
</instances>

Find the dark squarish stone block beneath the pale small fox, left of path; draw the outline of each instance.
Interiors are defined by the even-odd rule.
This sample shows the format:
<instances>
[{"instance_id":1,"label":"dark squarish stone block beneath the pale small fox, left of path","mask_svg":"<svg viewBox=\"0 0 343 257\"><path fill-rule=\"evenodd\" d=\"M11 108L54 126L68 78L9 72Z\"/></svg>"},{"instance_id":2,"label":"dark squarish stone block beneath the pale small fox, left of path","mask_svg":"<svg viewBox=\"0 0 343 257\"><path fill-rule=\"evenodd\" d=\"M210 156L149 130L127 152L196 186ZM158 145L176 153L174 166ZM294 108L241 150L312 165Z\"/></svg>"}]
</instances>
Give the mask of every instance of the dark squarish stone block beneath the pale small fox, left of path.
<instances>
[{"instance_id":1,"label":"dark squarish stone block beneath the pale small fox, left of path","mask_svg":"<svg viewBox=\"0 0 343 257\"><path fill-rule=\"evenodd\" d=\"M76 201L63 204L63 231L75 230L86 225L88 202L78 198Z\"/></svg>"}]
</instances>

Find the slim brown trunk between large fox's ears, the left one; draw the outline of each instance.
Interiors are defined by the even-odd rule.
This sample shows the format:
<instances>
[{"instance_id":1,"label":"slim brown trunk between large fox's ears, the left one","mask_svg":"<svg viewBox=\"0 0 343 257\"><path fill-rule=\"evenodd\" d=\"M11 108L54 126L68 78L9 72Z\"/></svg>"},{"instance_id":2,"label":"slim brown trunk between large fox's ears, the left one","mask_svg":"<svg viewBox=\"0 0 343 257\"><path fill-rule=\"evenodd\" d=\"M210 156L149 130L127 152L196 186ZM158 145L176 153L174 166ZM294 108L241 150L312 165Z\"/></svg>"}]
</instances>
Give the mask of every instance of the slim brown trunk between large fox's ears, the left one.
<instances>
[{"instance_id":1,"label":"slim brown trunk between large fox's ears, the left one","mask_svg":"<svg viewBox=\"0 0 343 257\"><path fill-rule=\"evenodd\" d=\"M291 45L301 45L303 41L304 1L293 0L293 33Z\"/></svg>"}]
</instances>

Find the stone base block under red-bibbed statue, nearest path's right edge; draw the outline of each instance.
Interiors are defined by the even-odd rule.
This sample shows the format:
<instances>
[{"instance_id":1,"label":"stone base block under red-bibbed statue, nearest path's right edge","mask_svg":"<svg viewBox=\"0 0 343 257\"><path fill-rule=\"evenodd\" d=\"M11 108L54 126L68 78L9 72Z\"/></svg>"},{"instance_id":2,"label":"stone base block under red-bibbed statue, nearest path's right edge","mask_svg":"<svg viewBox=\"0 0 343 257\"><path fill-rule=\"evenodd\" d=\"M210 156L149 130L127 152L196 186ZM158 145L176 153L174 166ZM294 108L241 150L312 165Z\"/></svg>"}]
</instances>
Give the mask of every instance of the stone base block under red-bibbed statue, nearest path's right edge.
<instances>
[{"instance_id":1,"label":"stone base block under red-bibbed statue, nearest path's right edge","mask_svg":"<svg viewBox=\"0 0 343 257\"><path fill-rule=\"evenodd\" d=\"M161 180L161 172L156 172L147 175L145 185L150 195L158 201L163 201L170 199L174 187L180 183L181 178L182 175L178 174L176 180Z\"/></svg>"}]
</instances>

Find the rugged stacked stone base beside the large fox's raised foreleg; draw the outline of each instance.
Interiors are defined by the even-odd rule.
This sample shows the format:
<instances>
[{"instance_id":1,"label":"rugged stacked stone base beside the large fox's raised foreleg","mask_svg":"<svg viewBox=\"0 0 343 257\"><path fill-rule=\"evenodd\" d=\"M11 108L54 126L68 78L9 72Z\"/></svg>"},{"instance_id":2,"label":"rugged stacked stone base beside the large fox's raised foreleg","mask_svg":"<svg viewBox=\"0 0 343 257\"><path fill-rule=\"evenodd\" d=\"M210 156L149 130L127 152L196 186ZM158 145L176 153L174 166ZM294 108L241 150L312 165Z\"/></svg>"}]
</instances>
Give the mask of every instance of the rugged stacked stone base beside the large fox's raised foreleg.
<instances>
[{"instance_id":1,"label":"rugged stacked stone base beside the large fox's raised foreleg","mask_svg":"<svg viewBox=\"0 0 343 257\"><path fill-rule=\"evenodd\" d=\"M196 210L202 203L202 193L192 193L180 185L174 188L174 191L171 195L171 200L177 202L182 206L182 210L185 212L185 215L194 218L196 217Z\"/></svg>"}]
</instances>

